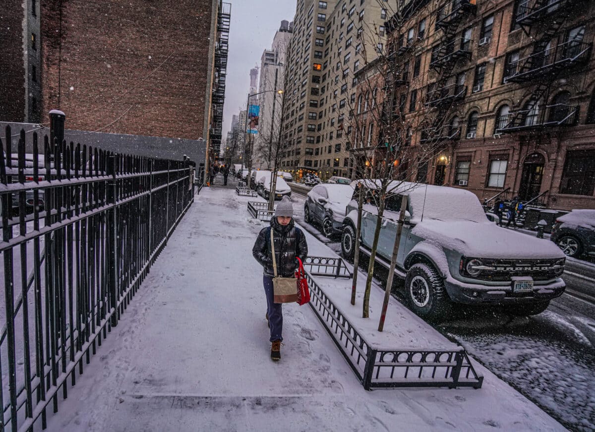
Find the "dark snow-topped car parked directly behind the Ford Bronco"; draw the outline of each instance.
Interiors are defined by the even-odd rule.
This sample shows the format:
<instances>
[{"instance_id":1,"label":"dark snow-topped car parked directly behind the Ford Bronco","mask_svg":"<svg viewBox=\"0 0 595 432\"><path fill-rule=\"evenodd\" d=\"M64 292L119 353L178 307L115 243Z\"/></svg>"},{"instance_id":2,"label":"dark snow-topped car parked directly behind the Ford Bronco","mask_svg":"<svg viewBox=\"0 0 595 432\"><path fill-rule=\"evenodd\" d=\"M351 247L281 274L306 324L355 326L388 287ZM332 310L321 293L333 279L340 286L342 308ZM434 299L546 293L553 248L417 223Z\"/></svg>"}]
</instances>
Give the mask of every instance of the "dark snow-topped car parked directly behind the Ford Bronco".
<instances>
[{"instance_id":1,"label":"dark snow-topped car parked directly behind the Ford Bronco","mask_svg":"<svg viewBox=\"0 0 595 432\"><path fill-rule=\"evenodd\" d=\"M341 233L352 195L353 187L349 184L317 184L306 196L303 219L309 224L320 224L327 237Z\"/></svg>"}]
</instances>

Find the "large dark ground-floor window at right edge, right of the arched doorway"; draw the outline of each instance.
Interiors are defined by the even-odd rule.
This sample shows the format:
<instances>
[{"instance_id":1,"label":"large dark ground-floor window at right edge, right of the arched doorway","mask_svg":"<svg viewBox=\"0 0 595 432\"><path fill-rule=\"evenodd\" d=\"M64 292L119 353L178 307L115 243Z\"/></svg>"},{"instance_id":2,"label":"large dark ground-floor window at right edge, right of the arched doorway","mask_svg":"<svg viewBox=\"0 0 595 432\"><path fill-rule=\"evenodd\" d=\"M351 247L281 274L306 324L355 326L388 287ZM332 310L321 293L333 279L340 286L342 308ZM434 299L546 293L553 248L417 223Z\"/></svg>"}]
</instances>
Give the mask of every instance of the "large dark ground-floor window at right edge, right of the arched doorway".
<instances>
[{"instance_id":1,"label":"large dark ground-floor window at right edge, right of the arched doorway","mask_svg":"<svg viewBox=\"0 0 595 432\"><path fill-rule=\"evenodd\" d=\"M595 190L595 150L566 152L560 193L592 196Z\"/></svg>"}]
</instances>

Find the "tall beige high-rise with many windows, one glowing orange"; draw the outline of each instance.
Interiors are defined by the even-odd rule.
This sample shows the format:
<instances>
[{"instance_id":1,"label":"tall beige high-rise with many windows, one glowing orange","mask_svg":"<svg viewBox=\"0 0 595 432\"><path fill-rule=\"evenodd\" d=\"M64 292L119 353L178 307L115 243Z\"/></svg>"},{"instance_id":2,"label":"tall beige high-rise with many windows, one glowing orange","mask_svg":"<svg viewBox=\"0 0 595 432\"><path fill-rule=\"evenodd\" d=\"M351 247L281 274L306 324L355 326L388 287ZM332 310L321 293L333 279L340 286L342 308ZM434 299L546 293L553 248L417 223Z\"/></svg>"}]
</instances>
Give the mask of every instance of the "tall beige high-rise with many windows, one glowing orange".
<instances>
[{"instance_id":1,"label":"tall beige high-rise with many windows, one glowing orange","mask_svg":"<svg viewBox=\"0 0 595 432\"><path fill-rule=\"evenodd\" d=\"M349 174L349 111L355 103L355 73L383 44L384 21L397 0L298 1L289 68L289 150L281 162L301 177Z\"/></svg>"}]
</instances>

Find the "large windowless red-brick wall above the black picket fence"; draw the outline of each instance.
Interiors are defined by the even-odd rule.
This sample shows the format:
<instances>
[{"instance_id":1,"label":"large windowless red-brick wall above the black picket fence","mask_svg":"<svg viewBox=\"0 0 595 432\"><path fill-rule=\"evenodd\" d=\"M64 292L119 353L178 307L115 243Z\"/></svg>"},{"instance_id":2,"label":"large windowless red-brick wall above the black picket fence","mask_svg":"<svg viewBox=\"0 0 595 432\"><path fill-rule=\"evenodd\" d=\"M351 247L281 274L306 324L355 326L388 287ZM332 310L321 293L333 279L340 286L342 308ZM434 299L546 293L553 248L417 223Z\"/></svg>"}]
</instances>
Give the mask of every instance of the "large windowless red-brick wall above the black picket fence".
<instances>
[{"instance_id":1,"label":"large windowless red-brick wall above the black picket fence","mask_svg":"<svg viewBox=\"0 0 595 432\"><path fill-rule=\"evenodd\" d=\"M211 8L201 0L43 2L42 112L61 109L68 129L201 137Z\"/></svg>"}]
</instances>

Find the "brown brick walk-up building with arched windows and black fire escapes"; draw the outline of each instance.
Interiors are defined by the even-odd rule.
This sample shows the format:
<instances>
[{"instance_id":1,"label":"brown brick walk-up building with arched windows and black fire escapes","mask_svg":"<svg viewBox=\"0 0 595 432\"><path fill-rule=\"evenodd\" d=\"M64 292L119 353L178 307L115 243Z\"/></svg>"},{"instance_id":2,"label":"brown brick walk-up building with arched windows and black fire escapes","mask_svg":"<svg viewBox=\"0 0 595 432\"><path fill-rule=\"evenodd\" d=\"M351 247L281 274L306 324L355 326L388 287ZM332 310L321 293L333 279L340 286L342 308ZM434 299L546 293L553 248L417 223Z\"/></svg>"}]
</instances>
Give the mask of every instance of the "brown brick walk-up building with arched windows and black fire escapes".
<instances>
[{"instance_id":1,"label":"brown brick walk-up building with arched windows and black fire escapes","mask_svg":"<svg viewBox=\"0 0 595 432\"><path fill-rule=\"evenodd\" d=\"M406 48L427 23L414 53L423 79L411 80L417 100L406 102L448 107L448 127L427 132L444 134L447 145L411 180L464 187L481 200L502 193L552 208L595 208L595 5L409 4L389 36ZM416 133L411 145L424 139Z\"/></svg>"}]
</instances>

